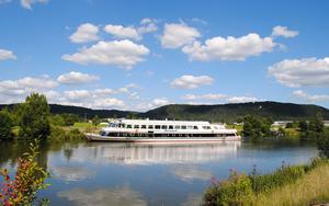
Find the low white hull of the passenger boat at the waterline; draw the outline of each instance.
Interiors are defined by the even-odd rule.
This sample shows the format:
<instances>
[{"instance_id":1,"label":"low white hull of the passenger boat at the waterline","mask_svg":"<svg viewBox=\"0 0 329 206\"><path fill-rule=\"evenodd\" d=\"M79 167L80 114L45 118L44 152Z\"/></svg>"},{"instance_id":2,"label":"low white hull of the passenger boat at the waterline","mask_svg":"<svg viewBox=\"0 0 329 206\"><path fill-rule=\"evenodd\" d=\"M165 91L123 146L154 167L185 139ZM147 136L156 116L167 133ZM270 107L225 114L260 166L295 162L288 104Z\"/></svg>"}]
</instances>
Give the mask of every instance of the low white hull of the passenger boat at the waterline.
<instances>
[{"instance_id":1,"label":"low white hull of the passenger boat at the waterline","mask_svg":"<svg viewBox=\"0 0 329 206\"><path fill-rule=\"evenodd\" d=\"M235 137L111 137L95 134L86 134L90 141L112 141L112 142L218 142L218 141L239 141L240 136Z\"/></svg>"}]
</instances>

